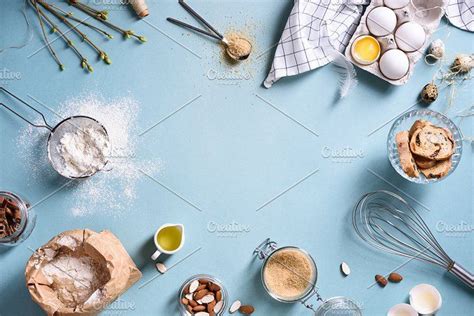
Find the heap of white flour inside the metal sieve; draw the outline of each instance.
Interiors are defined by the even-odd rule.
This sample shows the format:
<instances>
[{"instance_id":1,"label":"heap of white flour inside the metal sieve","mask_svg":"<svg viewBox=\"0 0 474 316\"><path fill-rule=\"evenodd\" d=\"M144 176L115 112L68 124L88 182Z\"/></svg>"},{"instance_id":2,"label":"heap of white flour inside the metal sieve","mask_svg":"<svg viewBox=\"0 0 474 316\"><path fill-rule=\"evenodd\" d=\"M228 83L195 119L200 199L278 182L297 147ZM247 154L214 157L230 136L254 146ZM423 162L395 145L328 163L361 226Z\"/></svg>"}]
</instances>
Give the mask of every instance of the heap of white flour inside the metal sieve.
<instances>
[{"instance_id":1,"label":"heap of white flour inside the metal sieve","mask_svg":"<svg viewBox=\"0 0 474 316\"><path fill-rule=\"evenodd\" d=\"M56 149L63 162L61 173L76 178L93 175L107 163L109 145L103 129L88 127L65 133Z\"/></svg>"}]
</instances>

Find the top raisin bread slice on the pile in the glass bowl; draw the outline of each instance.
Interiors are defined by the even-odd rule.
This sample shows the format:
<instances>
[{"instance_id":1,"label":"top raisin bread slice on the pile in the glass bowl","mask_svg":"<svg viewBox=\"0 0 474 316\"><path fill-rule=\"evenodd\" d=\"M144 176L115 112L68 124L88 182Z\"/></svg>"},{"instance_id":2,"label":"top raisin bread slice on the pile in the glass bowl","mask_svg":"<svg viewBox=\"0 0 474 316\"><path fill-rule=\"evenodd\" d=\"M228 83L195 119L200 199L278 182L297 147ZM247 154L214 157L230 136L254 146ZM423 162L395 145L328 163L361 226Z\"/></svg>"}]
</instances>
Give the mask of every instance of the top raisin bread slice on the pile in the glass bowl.
<instances>
[{"instance_id":1,"label":"top raisin bread slice on the pile in the glass bowl","mask_svg":"<svg viewBox=\"0 0 474 316\"><path fill-rule=\"evenodd\" d=\"M412 153L428 159L445 160L454 153L452 135L444 128L426 125L417 129L410 139Z\"/></svg>"}]
</instances>

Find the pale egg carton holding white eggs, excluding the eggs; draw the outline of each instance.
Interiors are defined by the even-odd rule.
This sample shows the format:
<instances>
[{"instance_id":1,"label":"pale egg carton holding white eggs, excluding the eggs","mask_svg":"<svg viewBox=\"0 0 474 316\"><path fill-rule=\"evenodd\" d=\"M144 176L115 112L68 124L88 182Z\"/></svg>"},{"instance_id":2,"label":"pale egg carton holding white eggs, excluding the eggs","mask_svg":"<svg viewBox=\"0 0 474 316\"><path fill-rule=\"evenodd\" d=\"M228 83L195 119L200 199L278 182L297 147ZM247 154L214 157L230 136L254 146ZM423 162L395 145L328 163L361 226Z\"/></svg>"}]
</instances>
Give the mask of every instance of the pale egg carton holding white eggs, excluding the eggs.
<instances>
[{"instance_id":1,"label":"pale egg carton holding white eggs, excluding the eggs","mask_svg":"<svg viewBox=\"0 0 474 316\"><path fill-rule=\"evenodd\" d=\"M441 18L444 15L444 8L446 7L446 4L447 4L447 0L372 0L371 3L367 6L365 13L362 16L357 29L355 30L354 34L351 37L351 40L349 41L349 44L346 47L345 56L354 65L376 75L377 77L393 85L405 84L408 81L408 79L411 77L411 75L413 74L416 62L424 56L426 47L429 44L429 38L438 28ZM385 36L376 36L369 31L369 27L367 26L367 16L370 14L370 12L373 9L377 7L382 7L382 6L387 7L388 9L392 10L395 13L396 26L394 30L390 32L390 34L385 35ZM382 16L382 18L384 17ZM408 64L409 64L406 74L403 77L398 78L398 79L390 79L386 77L379 68L380 58L383 56L385 52L389 50L401 49L401 47L397 45L395 32L402 24L407 23L407 22L418 23L425 31L425 40L424 40L423 45L417 50L413 52L404 51L404 53L408 57ZM378 25L380 26L380 24ZM364 35L373 36L379 42L379 45L380 45L379 57L377 58L375 62L369 65L363 65L357 62L351 53L352 44L354 43L354 41L357 38ZM410 37L411 35L413 34L408 33L408 37ZM401 43L400 46L404 46L403 43ZM401 50L403 51L403 49ZM397 65L392 65L392 66L397 67Z\"/></svg>"}]
</instances>

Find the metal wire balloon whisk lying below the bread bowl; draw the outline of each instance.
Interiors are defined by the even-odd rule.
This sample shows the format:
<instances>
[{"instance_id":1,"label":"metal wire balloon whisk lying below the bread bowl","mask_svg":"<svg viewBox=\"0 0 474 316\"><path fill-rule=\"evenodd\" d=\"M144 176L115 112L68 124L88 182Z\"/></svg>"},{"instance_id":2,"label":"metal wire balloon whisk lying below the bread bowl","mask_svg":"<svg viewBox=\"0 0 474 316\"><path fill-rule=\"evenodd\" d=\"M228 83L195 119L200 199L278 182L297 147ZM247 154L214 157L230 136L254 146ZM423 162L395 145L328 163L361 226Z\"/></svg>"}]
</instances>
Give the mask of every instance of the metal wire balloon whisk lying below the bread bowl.
<instances>
[{"instance_id":1,"label":"metal wire balloon whisk lying below the bread bowl","mask_svg":"<svg viewBox=\"0 0 474 316\"><path fill-rule=\"evenodd\" d=\"M474 275L448 256L421 216L397 194L365 194L353 210L352 225L371 246L441 266L474 288Z\"/></svg>"}]
</instances>

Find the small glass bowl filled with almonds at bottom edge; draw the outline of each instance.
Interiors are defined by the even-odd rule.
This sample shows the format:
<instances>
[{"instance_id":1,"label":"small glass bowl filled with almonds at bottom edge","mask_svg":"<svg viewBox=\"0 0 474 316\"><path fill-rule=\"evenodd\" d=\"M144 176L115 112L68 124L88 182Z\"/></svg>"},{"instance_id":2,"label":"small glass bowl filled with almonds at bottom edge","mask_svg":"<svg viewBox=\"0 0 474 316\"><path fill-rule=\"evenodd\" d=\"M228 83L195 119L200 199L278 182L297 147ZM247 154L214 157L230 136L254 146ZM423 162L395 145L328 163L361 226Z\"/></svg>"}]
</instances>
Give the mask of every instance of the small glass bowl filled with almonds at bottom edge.
<instances>
[{"instance_id":1,"label":"small glass bowl filled with almonds at bottom edge","mask_svg":"<svg viewBox=\"0 0 474 316\"><path fill-rule=\"evenodd\" d=\"M221 281L207 274L187 279L179 291L181 315L218 316L227 305L227 291Z\"/></svg>"}]
</instances>

